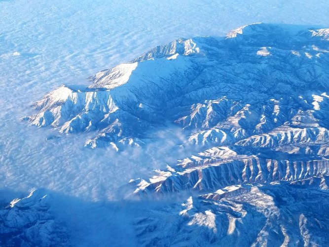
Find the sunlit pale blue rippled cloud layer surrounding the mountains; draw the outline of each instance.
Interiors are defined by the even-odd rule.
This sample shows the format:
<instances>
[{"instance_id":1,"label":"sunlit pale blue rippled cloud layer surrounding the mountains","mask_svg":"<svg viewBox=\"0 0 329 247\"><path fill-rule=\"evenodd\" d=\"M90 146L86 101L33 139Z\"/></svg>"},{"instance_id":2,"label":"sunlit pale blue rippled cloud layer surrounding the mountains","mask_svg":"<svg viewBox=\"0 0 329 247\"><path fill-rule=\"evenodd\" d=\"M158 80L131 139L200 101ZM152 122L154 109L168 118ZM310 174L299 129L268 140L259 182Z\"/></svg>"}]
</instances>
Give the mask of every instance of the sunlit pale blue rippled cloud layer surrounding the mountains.
<instances>
[{"instance_id":1,"label":"sunlit pale blue rippled cloud layer surrounding the mountains","mask_svg":"<svg viewBox=\"0 0 329 247\"><path fill-rule=\"evenodd\" d=\"M326 0L0 1L0 189L107 201L130 178L165 165L153 153L143 166L144 153L113 161L109 150L79 145L85 135L46 141L57 133L21 123L32 102L60 84L88 84L88 76L180 37L222 36L255 22L328 27L328 13Z\"/></svg>"}]
</instances>

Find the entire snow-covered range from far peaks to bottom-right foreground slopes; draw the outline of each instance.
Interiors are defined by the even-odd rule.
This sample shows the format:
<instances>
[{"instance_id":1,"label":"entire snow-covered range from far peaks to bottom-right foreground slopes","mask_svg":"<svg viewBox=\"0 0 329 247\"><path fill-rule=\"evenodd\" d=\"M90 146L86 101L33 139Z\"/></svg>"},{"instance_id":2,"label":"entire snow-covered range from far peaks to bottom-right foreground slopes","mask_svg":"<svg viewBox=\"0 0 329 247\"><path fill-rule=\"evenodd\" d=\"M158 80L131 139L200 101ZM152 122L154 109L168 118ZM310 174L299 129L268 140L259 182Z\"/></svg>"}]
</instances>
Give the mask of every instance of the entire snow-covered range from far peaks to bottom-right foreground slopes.
<instances>
[{"instance_id":1,"label":"entire snow-covered range from far peaks to bottom-right foreground slopes","mask_svg":"<svg viewBox=\"0 0 329 247\"><path fill-rule=\"evenodd\" d=\"M136 218L141 245L328 243L329 29L252 24L179 39L90 79L48 93L25 119L117 151L176 125L180 145L200 150L122 190L182 198Z\"/></svg>"}]
</instances>

